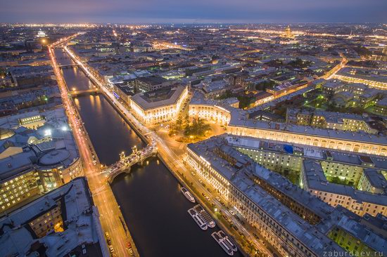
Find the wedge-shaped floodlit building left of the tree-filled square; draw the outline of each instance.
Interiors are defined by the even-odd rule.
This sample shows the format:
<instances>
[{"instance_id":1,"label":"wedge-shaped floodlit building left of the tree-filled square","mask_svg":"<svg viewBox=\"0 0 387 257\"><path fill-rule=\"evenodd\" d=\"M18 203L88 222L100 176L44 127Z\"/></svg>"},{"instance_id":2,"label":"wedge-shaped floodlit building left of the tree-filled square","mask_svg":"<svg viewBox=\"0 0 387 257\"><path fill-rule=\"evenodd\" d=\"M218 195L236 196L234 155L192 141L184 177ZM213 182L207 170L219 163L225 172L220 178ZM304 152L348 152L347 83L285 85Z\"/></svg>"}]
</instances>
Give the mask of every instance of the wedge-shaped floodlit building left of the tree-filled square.
<instances>
[{"instance_id":1,"label":"wedge-shaped floodlit building left of the tree-filled square","mask_svg":"<svg viewBox=\"0 0 387 257\"><path fill-rule=\"evenodd\" d=\"M134 115L145 124L158 124L177 118L187 96L186 86L161 88L133 95L130 107Z\"/></svg>"}]
</instances>

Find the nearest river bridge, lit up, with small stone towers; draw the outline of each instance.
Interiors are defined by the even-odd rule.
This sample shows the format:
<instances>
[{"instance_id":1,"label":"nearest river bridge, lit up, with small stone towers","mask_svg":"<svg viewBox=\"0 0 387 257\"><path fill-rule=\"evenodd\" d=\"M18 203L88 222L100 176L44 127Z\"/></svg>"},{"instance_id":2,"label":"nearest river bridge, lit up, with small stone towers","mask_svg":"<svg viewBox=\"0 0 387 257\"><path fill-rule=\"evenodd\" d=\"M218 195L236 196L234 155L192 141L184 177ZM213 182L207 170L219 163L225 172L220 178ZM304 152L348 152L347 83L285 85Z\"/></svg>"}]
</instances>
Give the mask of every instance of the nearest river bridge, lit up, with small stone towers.
<instances>
[{"instance_id":1,"label":"nearest river bridge, lit up, with small stone towers","mask_svg":"<svg viewBox=\"0 0 387 257\"><path fill-rule=\"evenodd\" d=\"M132 147L132 154L125 156L122 152L120 154L120 161L104 169L102 173L105 174L108 183L112 183L114 178L122 172L129 173L130 168L134 164L143 164L144 160L149 157L154 157L157 154L156 143L148 144L141 150L137 150L137 147Z\"/></svg>"}]
</instances>

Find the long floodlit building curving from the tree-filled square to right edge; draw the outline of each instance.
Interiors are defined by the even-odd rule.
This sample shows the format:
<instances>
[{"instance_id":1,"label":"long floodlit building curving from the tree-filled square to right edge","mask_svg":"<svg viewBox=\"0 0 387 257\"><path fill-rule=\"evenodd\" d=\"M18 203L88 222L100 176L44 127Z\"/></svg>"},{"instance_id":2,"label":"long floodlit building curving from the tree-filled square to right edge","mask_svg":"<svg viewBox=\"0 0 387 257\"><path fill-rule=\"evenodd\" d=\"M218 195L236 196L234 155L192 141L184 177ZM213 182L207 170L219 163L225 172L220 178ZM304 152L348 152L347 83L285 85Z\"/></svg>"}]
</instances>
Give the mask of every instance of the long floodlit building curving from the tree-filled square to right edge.
<instances>
[{"instance_id":1,"label":"long floodlit building curving from the tree-filled square to right edge","mask_svg":"<svg viewBox=\"0 0 387 257\"><path fill-rule=\"evenodd\" d=\"M206 100L198 93L189 103L189 115L228 124L229 133L236 136L387 156L386 136L249 119L248 112Z\"/></svg>"}]
</instances>

